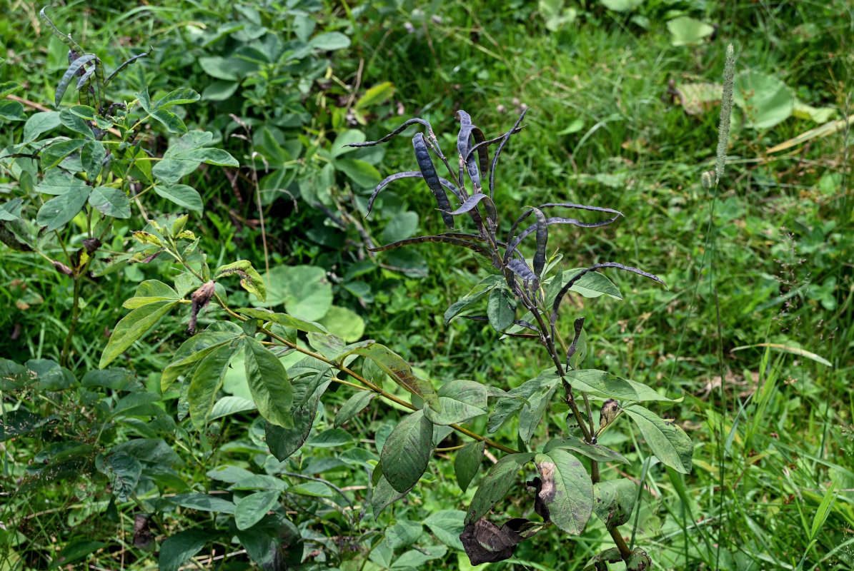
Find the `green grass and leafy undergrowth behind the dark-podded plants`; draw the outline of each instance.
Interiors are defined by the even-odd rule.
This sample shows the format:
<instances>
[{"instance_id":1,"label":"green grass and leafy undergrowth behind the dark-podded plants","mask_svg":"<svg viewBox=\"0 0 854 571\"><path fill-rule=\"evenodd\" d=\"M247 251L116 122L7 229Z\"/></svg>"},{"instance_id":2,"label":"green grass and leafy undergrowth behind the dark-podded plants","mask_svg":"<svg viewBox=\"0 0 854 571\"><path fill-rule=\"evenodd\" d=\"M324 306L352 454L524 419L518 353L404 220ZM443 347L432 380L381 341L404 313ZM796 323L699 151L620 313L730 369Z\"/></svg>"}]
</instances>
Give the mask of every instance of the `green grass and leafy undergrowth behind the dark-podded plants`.
<instances>
[{"instance_id":1,"label":"green grass and leafy undergrowth behind the dark-podded plants","mask_svg":"<svg viewBox=\"0 0 854 571\"><path fill-rule=\"evenodd\" d=\"M41 5L0 6L14 15L0 20L0 83L20 84L11 95L26 114L52 108L67 49L38 19ZM555 232L554 247L563 241L560 250L577 267L618 259L669 286L613 276L625 300L573 308L586 318L588 366L684 396L670 411L696 445L691 475L665 473L628 436L607 442L637 460L624 474L643 483L632 543L650 552L656 568L854 566L854 196L851 135L839 120L854 113L851 3L198 0L69 2L50 14L108 68L153 47L116 80L115 100L130 102L145 87L202 94L176 113L188 128L213 132L213 143L241 164L190 176L204 205L190 224L211 259L266 268L285 306L311 308L345 339L392 347L437 384L473 378L517 387L546 366L546 356L499 340L481 322L443 323L447 306L477 283L470 255L440 245L388 255L366 250L371 238L431 232L441 220L427 214L430 195L414 185L407 192L406 184L381 195L366 220L373 185L409 168L411 150L401 142L336 154L339 137L359 131L361 140L374 140L416 115L451 133L459 108L497 133L529 108L524 131L506 149L500 207L510 213L571 201L616 208L625 214L618 224ZM311 49L296 53L296 39ZM710 191L700 174L715 161L730 43L737 105L726 175ZM20 140L23 123L12 115L0 113L0 148ZM166 136L147 134L155 154ZM322 152L310 153L313 145ZM0 203L17 187L0 166ZM156 197L146 207L177 211ZM136 211L121 221L114 248L125 251L126 236L143 225ZM63 360L80 379L97 370L122 302L156 276L154 267L128 265L86 282L65 361L69 280L42 259L0 246L0 357ZM286 299L296 283L309 284L307 291ZM313 296L313 288L322 294ZM161 323L123 366L159 392L184 331L176 320ZM231 396L244 390L226 381ZM217 510L164 508L157 498L224 490L247 473L290 482L283 501L305 540L298 559L306 565L469 567L453 533L420 525L442 510L465 509L471 498L472 489L457 487L451 462L376 522L349 522L360 533L387 533L383 553L370 558L364 545L345 540L352 529L342 529L346 514L327 505L330 488L312 487L328 482L356 503L368 501L361 495L366 470L341 458L351 449L375 454L379 434L395 424L394 409L371 404L346 436L309 440L307 452L282 466L262 452L253 411L223 417L206 447L164 424L158 438L181 463L117 502L97 474L21 486L33 463L56 454L52 442L86 441L93 430L100 437L107 425L97 407L80 411L79 396L4 391L4 415L24 406L63 421L44 433L3 432L2 569L80 568L84 561L93 569L157 568L155 553L134 545L134 514L162 510L158 541L215 527ZM174 397L157 405L167 417L174 417ZM347 397L325 402L319 432ZM110 438L145 434L137 424L111 422ZM494 567L582 568L608 540L601 526L572 541L538 537ZM189 551L195 568L254 565L225 535L204 536Z\"/></svg>"}]
</instances>

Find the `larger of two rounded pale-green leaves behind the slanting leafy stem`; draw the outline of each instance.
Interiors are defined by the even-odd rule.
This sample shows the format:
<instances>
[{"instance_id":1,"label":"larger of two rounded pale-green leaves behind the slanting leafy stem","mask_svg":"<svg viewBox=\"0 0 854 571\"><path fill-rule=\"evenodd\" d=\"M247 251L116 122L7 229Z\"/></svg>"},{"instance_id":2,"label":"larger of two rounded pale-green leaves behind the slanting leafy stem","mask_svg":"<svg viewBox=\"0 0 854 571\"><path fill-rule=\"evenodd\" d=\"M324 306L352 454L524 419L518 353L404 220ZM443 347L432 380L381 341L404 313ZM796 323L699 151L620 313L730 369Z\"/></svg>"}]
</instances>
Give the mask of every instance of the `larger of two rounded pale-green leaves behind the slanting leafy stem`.
<instances>
[{"instance_id":1,"label":"larger of two rounded pale-green leaves behind the slanting leafy stem","mask_svg":"<svg viewBox=\"0 0 854 571\"><path fill-rule=\"evenodd\" d=\"M312 265L278 265L265 276L270 284L267 303L284 304L288 313L316 321L332 306L332 284L323 268Z\"/></svg>"}]
</instances>

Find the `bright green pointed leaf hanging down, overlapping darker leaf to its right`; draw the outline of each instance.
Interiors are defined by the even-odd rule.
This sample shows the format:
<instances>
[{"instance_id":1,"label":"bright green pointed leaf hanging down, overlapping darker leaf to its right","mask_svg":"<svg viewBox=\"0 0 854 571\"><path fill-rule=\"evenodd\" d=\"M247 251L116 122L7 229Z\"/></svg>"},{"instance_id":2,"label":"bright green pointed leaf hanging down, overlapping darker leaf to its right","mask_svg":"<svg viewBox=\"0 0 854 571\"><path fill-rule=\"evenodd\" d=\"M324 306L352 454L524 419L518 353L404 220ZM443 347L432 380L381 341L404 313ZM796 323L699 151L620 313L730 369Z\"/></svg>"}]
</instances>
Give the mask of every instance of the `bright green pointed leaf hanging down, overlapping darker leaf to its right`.
<instances>
[{"instance_id":1,"label":"bright green pointed leaf hanging down, overlapping darker leaf to its right","mask_svg":"<svg viewBox=\"0 0 854 571\"><path fill-rule=\"evenodd\" d=\"M290 405L294 394L284 365L269 349L252 337L245 340L246 380L258 411L267 422L284 428L294 425Z\"/></svg>"}]
</instances>

